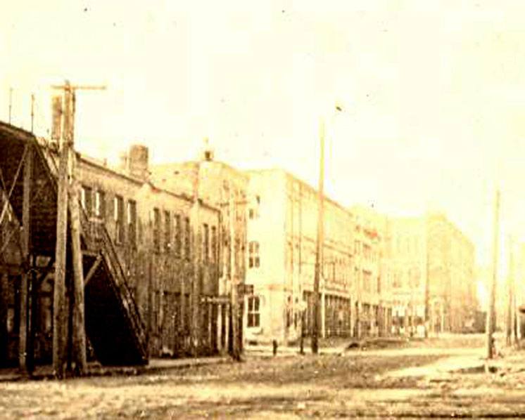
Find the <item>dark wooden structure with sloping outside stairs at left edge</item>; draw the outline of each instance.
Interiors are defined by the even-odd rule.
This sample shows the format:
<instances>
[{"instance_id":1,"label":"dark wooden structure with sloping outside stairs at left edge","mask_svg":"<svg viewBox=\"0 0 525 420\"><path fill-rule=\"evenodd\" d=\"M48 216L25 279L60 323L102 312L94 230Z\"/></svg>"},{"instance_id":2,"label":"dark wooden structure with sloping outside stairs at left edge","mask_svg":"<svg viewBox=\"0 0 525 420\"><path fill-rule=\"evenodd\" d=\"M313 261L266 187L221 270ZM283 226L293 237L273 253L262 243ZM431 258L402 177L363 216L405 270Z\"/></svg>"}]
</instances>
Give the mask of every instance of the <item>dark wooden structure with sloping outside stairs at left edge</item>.
<instances>
[{"instance_id":1,"label":"dark wooden structure with sloping outside stairs at left edge","mask_svg":"<svg viewBox=\"0 0 525 420\"><path fill-rule=\"evenodd\" d=\"M30 372L35 356L44 361L49 358L45 347L49 346L51 321L45 313L53 310L50 288L56 248L57 168L53 154L32 133L4 123L0 123L0 149L2 209L8 202L6 209L15 218L14 223L10 221L11 238L4 235L4 239L15 240L11 244L3 240L0 252L4 260L0 261L0 356L4 359L0 364L8 362L9 346L13 346L9 337L16 324L18 362ZM6 219L7 212L2 214ZM105 225L94 228L85 211L80 211L80 225L85 324L92 353L104 365L147 363L147 329L113 241ZM68 240L68 291L72 289L70 243ZM18 249L13 251L13 247ZM11 256L6 257L7 248Z\"/></svg>"}]
</instances>

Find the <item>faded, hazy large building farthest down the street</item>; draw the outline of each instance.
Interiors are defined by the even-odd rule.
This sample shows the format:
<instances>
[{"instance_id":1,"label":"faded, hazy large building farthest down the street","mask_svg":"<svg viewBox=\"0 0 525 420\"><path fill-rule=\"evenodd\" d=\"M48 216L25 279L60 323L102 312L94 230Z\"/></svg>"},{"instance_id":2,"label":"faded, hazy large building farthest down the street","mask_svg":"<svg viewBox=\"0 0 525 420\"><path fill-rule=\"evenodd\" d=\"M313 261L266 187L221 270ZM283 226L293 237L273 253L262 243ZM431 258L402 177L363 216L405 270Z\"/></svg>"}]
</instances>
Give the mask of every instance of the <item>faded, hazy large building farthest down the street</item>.
<instances>
[{"instance_id":1,"label":"faded, hazy large building farthest down the street","mask_svg":"<svg viewBox=\"0 0 525 420\"><path fill-rule=\"evenodd\" d=\"M474 246L443 214L391 218L388 265L393 328L422 334L460 332L477 310Z\"/></svg>"}]
</instances>

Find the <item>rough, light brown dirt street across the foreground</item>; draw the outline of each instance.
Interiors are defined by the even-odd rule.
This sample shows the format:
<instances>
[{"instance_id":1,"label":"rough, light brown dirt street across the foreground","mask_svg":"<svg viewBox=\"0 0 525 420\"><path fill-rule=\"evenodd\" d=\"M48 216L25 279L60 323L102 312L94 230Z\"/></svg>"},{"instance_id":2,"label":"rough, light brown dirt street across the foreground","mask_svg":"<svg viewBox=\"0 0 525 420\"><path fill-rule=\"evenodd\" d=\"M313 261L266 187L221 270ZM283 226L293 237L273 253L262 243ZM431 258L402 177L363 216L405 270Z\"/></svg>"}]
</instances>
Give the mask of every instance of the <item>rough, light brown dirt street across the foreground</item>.
<instances>
[{"instance_id":1,"label":"rough, light brown dirt street across the foreground","mask_svg":"<svg viewBox=\"0 0 525 420\"><path fill-rule=\"evenodd\" d=\"M525 416L525 371L500 368L495 373L482 372L479 369L482 340L479 337L464 340L450 338L413 343L406 348L349 350L341 355L317 357L247 355L242 363L143 376L0 383L0 416L37 419ZM470 348L458 347L465 344ZM508 360L516 366L525 365L525 354L509 354ZM448 365L454 369L464 366L463 372L450 373Z\"/></svg>"}]
</instances>

